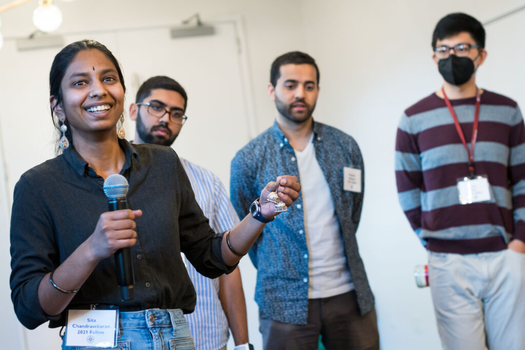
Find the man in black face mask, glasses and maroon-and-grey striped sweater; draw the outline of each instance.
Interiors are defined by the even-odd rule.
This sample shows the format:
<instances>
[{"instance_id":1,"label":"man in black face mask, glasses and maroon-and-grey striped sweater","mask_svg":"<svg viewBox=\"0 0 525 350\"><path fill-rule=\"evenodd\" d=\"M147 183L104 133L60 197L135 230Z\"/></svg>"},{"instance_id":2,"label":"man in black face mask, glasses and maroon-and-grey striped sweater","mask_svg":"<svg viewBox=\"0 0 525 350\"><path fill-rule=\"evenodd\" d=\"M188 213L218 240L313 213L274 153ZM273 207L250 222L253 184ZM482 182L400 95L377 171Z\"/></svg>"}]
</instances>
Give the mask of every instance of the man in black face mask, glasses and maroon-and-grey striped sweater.
<instances>
[{"instance_id":1,"label":"man in black face mask, glasses and maroon-and-grey striped sweater","mask_svg":"<svg viewBox=\"0 0 525 350\"><path fill-rule=\"evenodd\" d=\"M525 127L516 102L476 85L485 30L439 20L443 86L405 110L396 138L400 203L428 250L445 349L525 349Z\"/></svg>"}]
</instances>

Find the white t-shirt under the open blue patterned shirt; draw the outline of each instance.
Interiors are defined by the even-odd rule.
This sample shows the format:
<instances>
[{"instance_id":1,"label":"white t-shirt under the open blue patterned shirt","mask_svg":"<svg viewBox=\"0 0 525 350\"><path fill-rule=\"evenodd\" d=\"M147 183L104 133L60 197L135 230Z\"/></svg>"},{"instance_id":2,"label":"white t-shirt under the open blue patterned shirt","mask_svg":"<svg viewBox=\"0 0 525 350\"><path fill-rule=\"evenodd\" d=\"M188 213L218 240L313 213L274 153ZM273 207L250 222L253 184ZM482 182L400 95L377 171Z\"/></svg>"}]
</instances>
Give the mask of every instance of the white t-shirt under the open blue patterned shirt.
<instances>
[{"instance_id":1,"label":"white t-shirt under the open blue patterned shirt","mask_svg":"<svg viewBox=\"0 0 525 350\"><path fill-rule=\"evenodd\" d=\"M308 298L328 298L354 289L330 187L310 142L303 151L295 150L304 206L304 231L310 278Z\"/></svg>"}]
</instances>

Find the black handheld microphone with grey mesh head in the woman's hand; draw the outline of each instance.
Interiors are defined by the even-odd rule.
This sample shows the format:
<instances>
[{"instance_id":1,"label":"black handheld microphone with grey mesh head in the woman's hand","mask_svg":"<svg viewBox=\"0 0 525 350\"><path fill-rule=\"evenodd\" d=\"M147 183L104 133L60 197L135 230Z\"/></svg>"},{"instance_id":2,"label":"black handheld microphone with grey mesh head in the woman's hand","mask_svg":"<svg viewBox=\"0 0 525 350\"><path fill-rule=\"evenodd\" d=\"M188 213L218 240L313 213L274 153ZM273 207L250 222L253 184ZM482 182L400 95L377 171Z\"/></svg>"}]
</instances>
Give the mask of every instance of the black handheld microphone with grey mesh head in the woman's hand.
<instances>
[{"instance_id":1,"label":"black handheld microphone with grey mesh head in the woman's hand","mask_svg":"<svg viewBox=\"0 0 525 350\"><path fill-rule=\"evenodd\" d=\"M113 174L104 181L104 193L108 197L109 211L128 209L129 184L120 174ZM133 299L133 261L130 248L122 248L115 252L115 266L117 268L117 283L120 287L122 301Z\"/></svg>"}]
</instances>

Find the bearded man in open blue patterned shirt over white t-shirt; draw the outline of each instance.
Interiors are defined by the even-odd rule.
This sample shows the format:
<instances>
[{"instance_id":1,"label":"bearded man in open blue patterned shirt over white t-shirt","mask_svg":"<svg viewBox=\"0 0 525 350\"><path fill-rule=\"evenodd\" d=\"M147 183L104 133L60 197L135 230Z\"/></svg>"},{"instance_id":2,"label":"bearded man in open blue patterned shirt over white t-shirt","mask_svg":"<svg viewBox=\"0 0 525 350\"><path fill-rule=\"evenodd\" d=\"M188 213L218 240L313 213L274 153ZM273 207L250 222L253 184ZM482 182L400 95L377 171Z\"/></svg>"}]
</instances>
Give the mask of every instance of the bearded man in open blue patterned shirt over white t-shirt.
<instances>
[{"instance_id":1,"label":"bearded man in open blue patterned shirt over white t-shirt","mask_svg":"<svg viewBox=\"0 0 525 350\"><path fill-rule=\"evenodd\" d=\"M237 152L230 197L240 216L273 174L298 176L301 196L249 251L265 349L379 349L374 296L355 239L364 169L354 139L314 122L316 62L288 52L271 66L276 122Z\"/></svg>"}]
</instances>

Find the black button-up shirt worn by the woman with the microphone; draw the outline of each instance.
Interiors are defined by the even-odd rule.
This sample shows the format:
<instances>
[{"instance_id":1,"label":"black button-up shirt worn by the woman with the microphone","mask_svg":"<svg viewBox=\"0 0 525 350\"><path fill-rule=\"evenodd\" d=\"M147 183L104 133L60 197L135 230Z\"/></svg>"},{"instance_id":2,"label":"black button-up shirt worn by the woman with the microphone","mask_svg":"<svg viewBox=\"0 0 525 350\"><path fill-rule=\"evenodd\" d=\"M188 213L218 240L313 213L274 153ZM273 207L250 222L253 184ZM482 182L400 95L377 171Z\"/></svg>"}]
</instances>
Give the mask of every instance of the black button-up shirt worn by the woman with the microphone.
<instances>
[{"instance_id":1,"label":"black button-up shirt worn by the woman with the microphone","mask_svg":"<svg viewBox=\"0 0 525 350\"><path fill-rule=\"evenodd\" d=\"M143 211L135 220L138 239L131 248L135 298L121 301L111 256L98 263L69 307L99 303L117 304L120 311L159 307L190 313L196 296L181 251L198 272L218 277L232 270L220 253L222 235L209 227L172 149L124 140L120 146L129 207ZM26 327L47 320L50 327L65 323L64 313L51 317L41 310L38 284L93 233L100 214L108 211L102 186L103 178L73 147L20 177L11 217L10 286L16 315Z\"/></svg>"}]
</instances>

